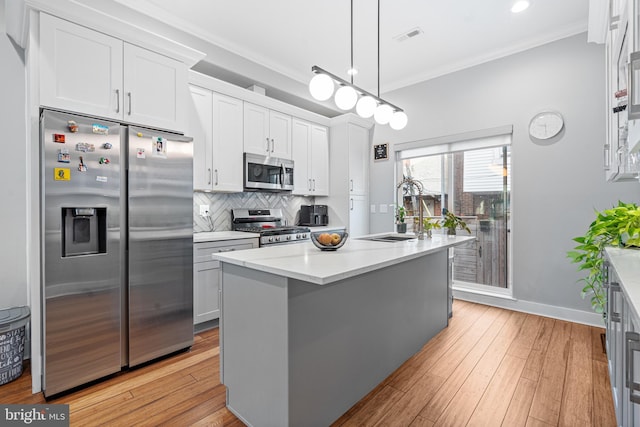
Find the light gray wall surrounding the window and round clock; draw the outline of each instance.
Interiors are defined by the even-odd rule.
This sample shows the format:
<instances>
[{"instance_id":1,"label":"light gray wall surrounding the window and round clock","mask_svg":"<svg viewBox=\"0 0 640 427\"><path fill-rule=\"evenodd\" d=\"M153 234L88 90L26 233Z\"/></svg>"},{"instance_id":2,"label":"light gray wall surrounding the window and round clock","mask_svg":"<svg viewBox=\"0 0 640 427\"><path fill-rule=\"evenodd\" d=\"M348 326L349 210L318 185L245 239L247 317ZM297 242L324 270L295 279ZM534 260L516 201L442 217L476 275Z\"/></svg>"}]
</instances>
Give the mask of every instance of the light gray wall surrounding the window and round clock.
<instances>
[{"instance_id":1,"label":"light gray wall surrounding the window and round clock","mask_svg":"<svg viewBox=\"0 0 640 427\"><path fill-rule=\"evenodd\" d=\"M425 52L425 54L428 54ZM374 143L428 139L513 125L513 295L523 301L590 310L580 275L566 258L594 209L639 202L640 184L606 183L604 47L586 34L563 39L384 94L407 111L402 131L376 125ZM566 130L551 145L527 134L542 110L562 113ZM371 203L393 203L394 162L371 162ZM371 232L392 230L389 214L371 214Z\"/></svg>"}]
</instances>

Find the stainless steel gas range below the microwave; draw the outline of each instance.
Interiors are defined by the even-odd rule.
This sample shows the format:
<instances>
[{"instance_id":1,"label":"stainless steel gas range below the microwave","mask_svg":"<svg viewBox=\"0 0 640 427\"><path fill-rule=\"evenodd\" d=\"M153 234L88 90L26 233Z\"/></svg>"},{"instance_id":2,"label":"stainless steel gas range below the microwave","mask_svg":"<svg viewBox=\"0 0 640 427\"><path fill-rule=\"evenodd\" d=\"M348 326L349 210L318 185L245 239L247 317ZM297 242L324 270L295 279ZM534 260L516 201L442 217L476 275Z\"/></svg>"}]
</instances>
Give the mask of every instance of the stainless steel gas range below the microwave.
<instances>
[{"instance_id":1,"label":"stainless steel gas range below the microwave","mask_svg":"<svg viewBox=\"0 0 640 427\"><path fill-rule=\"evenodd\" d=\"M235 231L260 234L260 246L299 243L309 240L307 227L282 225L282 209L232 209Z\"/></svg>"}]
</instances>

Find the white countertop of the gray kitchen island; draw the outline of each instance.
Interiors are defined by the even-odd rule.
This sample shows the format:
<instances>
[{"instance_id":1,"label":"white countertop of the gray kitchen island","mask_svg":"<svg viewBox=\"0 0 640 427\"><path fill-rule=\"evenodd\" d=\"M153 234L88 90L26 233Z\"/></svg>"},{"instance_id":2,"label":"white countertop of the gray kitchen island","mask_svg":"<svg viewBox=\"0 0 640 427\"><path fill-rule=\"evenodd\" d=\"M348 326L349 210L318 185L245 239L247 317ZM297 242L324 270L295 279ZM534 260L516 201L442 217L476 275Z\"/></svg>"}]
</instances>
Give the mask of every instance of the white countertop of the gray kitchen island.
<instances>
[{"instance_id":1,"label":"white countertop of the gray kitchen island","mask_svg":"<svg viewBox=\"0 0 640 427\"><path fill-rule=\"evenodd\" d=\"M431 239L425 237L424 240L414 239L406 242L372 242L349 238L337 251L321 251L309 241L225 252L215 254L214 257L222 262L326 285L473 239L475 237L462 235L434 235Z\"/></svg>"}]
</instances>

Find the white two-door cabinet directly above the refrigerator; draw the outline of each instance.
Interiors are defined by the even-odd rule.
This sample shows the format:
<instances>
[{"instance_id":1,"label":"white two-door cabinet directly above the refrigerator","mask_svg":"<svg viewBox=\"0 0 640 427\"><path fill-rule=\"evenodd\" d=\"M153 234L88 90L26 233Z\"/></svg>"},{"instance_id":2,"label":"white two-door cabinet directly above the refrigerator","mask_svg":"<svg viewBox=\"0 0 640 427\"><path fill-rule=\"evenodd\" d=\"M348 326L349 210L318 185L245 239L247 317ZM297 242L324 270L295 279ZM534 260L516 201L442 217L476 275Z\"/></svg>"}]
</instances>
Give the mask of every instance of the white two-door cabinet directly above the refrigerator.
<instances>
[{"instance_id":1,"label":"white two-door cabinet directly above the refrigerator","mask_svg":"<svg viewBox=\"0 0 640 427\"><path fill-rule=\"evenodd\" d=\"M184 131L187 66L40 14L40 104Z\"/></svg>"}]
</instances>

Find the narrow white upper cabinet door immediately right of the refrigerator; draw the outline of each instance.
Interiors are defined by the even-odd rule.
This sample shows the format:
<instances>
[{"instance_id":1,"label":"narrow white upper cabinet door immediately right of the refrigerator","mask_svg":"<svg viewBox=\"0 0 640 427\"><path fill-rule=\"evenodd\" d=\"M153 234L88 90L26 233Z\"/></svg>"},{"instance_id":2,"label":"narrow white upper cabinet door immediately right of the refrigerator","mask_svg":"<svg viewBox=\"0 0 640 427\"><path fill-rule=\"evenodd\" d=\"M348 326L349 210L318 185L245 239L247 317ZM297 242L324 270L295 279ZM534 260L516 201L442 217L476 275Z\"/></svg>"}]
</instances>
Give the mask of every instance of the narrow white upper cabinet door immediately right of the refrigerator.
<instances>
[{"instance_id":1,"label":"narrow white upper cabinet door immediately right of the refrigerator","mask_svg":"<svg viewBox=\"0 0 640 427\"><path fill-rule=\"evenodd\" d=\"M189 91L188 132L193 138L193 188L210 191L213 189L213 93L197 86L189 86Z\"/></svg>"}]
</instances>

